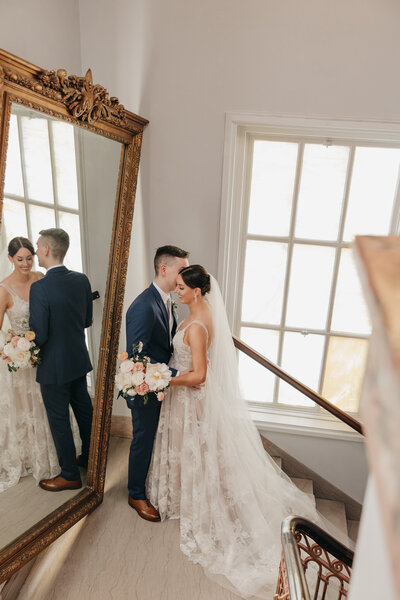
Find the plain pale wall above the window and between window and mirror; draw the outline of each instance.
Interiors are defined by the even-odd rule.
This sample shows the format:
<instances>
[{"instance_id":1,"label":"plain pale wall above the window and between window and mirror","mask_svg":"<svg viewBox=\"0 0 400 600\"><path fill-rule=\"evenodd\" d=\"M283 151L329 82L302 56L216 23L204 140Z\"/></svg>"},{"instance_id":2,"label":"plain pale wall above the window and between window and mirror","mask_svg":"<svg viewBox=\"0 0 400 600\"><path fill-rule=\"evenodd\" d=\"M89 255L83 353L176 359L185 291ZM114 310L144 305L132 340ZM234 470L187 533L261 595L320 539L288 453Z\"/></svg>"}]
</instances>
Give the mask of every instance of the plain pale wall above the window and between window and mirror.
<instances>
[{"instance_id":1,"label":"plain pale wall above the window and between window and mirror","mask_svg":"<svg viewBox=\"0 0 400 600\"><path fill-rule=\"evenodd\" d=\"M80 6L82 32L87 14L100 22L83 36L85 66L150 119L141 165L149 259L169 241L216 272L225 112L400 117L395 0Z\"/></svg>"}]
</instances>

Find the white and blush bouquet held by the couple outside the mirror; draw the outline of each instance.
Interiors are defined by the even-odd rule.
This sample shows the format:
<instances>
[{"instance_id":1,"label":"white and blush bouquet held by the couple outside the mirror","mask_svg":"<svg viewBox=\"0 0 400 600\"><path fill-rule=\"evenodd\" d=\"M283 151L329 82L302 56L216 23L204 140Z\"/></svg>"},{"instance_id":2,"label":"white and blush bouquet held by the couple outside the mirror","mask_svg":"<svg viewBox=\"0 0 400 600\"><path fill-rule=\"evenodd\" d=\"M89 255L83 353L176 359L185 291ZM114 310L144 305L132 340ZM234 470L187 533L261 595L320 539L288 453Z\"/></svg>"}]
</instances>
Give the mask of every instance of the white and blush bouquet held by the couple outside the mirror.
<instances>
[{"instance_id":1,"label":"white and blush bouquet held by the couple outside the mirror","mask_svg":"<svg viewBox=\"0 0 400 600\"><path fill-rule=\"evenodd\" d=\"M164 400L164 392L169 387L171 371L165 363L151 363L148 356L141 358L143 350L142 342L134 344L133 356L128 358L127 352L121 352L118 358L122 361L119 372L115 377L115 383L122 396L143 396L146 404L149 392L155 392L160 402Z\"/></svg>"}]
</instances>

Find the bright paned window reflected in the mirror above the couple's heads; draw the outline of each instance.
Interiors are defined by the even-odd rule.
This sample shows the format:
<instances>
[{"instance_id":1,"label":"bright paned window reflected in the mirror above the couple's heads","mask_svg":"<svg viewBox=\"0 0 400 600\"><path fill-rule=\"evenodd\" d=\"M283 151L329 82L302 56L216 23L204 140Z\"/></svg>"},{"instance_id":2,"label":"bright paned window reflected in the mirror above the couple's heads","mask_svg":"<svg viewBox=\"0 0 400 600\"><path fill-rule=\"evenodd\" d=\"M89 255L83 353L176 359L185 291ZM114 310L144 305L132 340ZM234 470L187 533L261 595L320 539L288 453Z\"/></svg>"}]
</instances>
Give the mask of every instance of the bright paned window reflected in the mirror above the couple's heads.
<instances>
[{"instance_id":1,"label":"bright paned window reflected in the mirror above the couple's heads","mask_svg":"<svg viewBox=\"0 0 400 600\"><path fill-rule=\"evenodd\" d=\"M72 125L13 106L3 222L7 241L23 235L35 244L41 229L67 230L71 243L65 264L76 271L83 270Z\"/></svg>"}]
</instances>

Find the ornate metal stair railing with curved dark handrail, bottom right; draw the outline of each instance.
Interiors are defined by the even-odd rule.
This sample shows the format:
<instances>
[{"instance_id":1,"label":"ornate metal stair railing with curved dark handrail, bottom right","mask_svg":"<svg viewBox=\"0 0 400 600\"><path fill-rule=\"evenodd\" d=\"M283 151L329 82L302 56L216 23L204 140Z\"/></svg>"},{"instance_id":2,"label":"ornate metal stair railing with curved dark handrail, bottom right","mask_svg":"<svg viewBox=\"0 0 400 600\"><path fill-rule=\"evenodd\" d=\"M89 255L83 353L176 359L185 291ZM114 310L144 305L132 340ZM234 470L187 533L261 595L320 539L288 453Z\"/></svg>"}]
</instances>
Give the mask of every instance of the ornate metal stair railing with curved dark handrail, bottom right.
<instances>
[{"instance_id":1,"label":"ornate metal stair railing with curved dark handrail, bottom right","mask_svg":"<svg viewBox=\"0 0 400 600\"><path fill-rule=\"evenodd\" d=\"M282 522L282 558L274 600L345 600L348 594L354 553L302 517ZM311 568L310 568L311 567ZM312 568L315 568L314 572ZM312 595L306 575L312 584ZM314 580L313 580L314 579ZM335 589L333 589L333 587Z\"/></svg>"}]
</instances>

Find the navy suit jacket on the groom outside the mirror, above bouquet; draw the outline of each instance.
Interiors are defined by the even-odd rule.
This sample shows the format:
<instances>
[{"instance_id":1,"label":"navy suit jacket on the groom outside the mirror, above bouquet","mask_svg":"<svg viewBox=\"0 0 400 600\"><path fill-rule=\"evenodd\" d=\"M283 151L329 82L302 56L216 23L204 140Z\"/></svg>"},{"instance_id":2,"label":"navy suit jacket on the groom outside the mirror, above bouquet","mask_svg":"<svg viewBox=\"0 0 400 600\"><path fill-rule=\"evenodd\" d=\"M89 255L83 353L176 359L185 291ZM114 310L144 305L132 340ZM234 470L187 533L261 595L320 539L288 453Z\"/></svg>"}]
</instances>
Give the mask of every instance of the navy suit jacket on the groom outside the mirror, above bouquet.
<instances>
[{"instance_id":1,"label":"navy suit jacket on the groom outside the mirror, above bouquet","mask_svg":"<svg viewBox=\"0 0 400 600\"><path fill-rule=\"evenodd\" d=\"M132 347L143 343L141 356L148 356L151 362L168 364L173 352L172 338L176 331L175 314L172 311L173 326L169 332L167 309L158 293L151 284L130 305L126 313L126 351L132 356ZM175 369L171 369L176 375ZM137 401L135 399L135 401ZM151 399L149 399L151 400ZM129 408L133 400L127 398Z\"/></svg>"}]
</instances>

